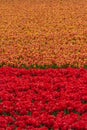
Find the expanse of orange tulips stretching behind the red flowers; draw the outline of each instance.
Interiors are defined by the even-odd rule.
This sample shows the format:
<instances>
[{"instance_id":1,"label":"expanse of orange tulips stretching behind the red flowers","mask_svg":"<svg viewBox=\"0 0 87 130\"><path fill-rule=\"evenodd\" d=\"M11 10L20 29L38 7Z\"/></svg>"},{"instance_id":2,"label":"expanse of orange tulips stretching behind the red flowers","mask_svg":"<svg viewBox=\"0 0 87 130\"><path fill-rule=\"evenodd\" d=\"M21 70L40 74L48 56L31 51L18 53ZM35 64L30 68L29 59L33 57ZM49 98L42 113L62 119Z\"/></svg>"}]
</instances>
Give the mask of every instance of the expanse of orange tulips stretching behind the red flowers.
<instances>
[{"instance_id":1,"label":"expanse of orange tulips stretching behind the red flowers","mask_svg":"<svg viewBox=\"0 0 87 130\"><path fill-rule=\"evenodd\" d=\"M0 65L87 65L87 1L0 1Z\"/></svg>"}]
</instances>

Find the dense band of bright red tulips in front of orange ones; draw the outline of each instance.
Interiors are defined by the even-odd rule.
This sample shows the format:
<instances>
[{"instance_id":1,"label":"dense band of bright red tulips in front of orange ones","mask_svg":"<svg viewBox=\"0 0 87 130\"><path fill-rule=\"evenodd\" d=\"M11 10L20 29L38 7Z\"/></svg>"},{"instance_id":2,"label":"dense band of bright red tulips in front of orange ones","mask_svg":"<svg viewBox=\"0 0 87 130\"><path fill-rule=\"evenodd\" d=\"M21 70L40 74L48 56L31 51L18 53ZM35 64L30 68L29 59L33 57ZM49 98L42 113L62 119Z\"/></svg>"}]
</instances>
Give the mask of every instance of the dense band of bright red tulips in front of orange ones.
<instances>
[{"instance_id":1,"label":"dense band of bright red tulips in front of orange ones","mask_svg":"<svg viewBox=\"0 0 87 130\"><path fill-rule=\"evenodd\" d=\"M87 130L87 70L0 69L0 130Z\"/></svg>"}]
</instances>

